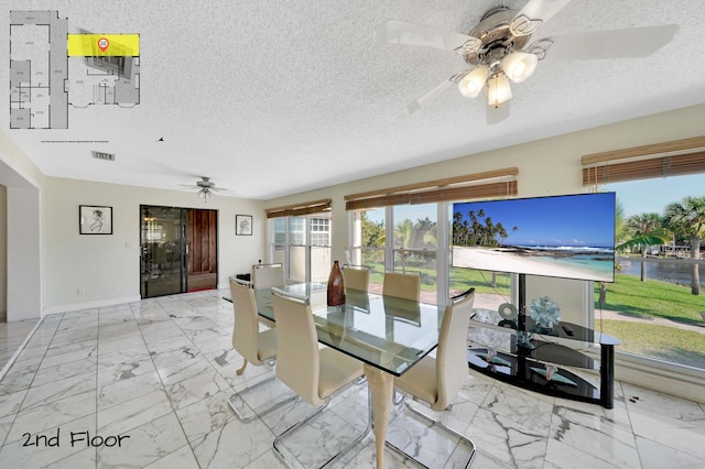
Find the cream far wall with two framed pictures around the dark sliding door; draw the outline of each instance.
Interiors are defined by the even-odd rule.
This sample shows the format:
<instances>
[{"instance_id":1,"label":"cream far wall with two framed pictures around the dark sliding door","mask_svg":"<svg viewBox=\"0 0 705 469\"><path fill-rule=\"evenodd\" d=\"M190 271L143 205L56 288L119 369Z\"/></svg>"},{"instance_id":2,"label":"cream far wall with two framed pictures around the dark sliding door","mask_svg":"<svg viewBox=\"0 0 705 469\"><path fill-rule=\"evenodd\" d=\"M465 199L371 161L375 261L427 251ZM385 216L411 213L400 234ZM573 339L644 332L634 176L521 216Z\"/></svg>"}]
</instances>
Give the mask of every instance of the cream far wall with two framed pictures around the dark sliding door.
<instances>
[{"instance_id":1,"label":"cream far wall with two framed pictures around the dark sliding door","mask_svg":"<svg viewBox=\"0 0 705 469\"><path fill-rule=\"evenodd\" d=\"M47 177L44 198L44 312L140 298L140 204L218 210L218 286L247 273L265 253L262 201L193 192ZM78 233L78 206L112 207L112 234ZM235 215L252 215L252 236L235 236Z\"/></svg>"}]
</instances>

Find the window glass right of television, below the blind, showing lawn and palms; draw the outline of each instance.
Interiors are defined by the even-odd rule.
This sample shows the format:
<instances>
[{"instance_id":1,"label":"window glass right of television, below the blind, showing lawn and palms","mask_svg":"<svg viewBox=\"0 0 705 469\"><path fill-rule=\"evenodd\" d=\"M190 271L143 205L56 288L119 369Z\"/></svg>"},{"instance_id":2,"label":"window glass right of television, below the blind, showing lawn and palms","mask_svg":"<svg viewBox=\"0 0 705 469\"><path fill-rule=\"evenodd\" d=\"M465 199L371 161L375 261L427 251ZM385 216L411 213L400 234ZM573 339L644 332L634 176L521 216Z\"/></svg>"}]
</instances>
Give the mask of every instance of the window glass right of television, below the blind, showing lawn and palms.
<instances>
[{"instance_id":1,"label":"window glass right of television, below the blind, showing lawn and palms","mask_svg":"<svg viewBox=\"0 0 705 469\"><path fill-rule=\"evenodd\" d=\"M601 188L617 194L621 249L615 283L596 288L595 327L620 352L705 369L705 247L693 242L693 223L705 234L705 174Z\"/></svg>"}]
</instances>

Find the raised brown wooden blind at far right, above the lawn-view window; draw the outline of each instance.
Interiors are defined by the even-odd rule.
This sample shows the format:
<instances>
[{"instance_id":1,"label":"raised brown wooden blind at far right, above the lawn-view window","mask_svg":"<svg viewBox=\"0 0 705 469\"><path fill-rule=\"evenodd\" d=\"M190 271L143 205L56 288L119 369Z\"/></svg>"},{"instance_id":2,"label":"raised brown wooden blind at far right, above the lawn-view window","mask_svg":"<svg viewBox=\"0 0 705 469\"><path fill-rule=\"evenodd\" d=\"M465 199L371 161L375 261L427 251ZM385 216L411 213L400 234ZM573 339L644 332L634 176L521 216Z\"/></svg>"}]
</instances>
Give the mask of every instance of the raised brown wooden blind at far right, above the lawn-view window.
<instances>
[{"instance_id":1,"label":"raised brown wooden blind at far right, above the lawn-view window","mask_svg":"<svg viewBox=\"0 0 705 469\"><path fill-rule=\"evenodd\" d=\"M583 186L705 172L705 137L583 156Z\"/></svg>"}]
</instances>

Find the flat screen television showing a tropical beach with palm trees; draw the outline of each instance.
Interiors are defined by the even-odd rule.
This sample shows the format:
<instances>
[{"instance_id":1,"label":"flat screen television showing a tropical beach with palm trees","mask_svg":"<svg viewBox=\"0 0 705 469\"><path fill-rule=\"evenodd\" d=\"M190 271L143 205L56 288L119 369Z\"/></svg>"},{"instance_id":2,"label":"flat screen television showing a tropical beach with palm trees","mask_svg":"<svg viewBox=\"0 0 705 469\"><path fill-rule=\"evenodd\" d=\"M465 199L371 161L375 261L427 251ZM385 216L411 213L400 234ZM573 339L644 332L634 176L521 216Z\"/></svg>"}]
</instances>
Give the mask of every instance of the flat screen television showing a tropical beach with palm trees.
<instances>
[{"instance_id":1,"label":"flat screen television showing a tropical beach with palm trees","mask_svg":"<svg viewBox=\"0 0 705 469\"><path fill-rule=\"evenodd\" d=\"M452 265L615 281L615 193L453 204Z\"/></svg>"}]
</instances>

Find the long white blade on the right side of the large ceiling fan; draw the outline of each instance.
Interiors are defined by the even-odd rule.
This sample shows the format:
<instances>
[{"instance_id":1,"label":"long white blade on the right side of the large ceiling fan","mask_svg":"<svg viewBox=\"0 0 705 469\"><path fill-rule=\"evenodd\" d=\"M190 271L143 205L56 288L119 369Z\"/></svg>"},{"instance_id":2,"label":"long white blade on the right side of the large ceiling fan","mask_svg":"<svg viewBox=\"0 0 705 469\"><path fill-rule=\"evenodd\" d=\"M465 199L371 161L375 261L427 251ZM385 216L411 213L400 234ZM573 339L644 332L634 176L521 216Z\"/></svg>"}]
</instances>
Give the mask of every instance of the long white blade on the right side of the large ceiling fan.
<instances>
[{"instance_id":1,"label":"long white blade on the right side of the large ceiling fan","mask_svg":"<svg viewBox=\"0 0 705 469\"><path fill-rule=\"evenodd\" d=\"M677 30L677 24L665 24L555 36L545 58L647 57L670 43Z\"/></svg>"}]
</instances>

